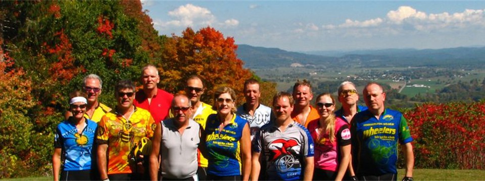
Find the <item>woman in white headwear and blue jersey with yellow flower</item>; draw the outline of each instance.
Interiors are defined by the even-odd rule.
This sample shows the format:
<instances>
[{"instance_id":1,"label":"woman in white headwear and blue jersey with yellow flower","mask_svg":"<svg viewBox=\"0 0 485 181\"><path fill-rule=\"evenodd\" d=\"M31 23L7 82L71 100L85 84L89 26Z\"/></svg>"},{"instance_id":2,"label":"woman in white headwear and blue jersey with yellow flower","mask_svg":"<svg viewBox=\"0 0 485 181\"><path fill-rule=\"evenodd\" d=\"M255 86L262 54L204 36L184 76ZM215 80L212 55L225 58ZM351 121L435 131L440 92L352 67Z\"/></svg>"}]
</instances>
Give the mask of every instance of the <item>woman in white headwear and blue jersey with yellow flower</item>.
<instances>
[{"instance_id":1,"label":"woman in white headwear and blue jersey with yellow flower","mask_svg":"<svg viewBox=\"0 0 485 181\"><path fill-rule=\"evenodd\" d=\"M55 181L99 179L91 178L90 174L92 144L98 124L84 118L86 97L79 91L71 93L69 111L72 116L57 126L52 157Z\"/></svg>"}]
</instances>

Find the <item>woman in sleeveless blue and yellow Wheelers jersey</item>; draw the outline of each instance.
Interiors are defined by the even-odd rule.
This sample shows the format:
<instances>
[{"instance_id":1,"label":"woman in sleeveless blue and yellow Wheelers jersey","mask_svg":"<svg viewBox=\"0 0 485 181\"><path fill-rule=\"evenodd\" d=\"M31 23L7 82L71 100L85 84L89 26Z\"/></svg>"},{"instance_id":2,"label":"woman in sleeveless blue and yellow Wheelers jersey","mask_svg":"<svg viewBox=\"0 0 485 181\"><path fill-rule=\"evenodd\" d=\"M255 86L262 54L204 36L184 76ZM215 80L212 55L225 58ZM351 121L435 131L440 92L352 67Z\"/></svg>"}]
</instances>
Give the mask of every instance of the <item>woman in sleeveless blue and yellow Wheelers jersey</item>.
<instances>
[{"instance_id":1,"label":"woman in sleeveless blue and yellow Wheelers jersey","mask_svg":"<svg viewBox=\"0 0 485 181\"><path fill-rule=\"evenodd\" d=\"M214 93L213 109L207 118L206 145L209 180L248 180L251 172L249 123L235 114L236 94L229 87Z\"/></svg>"}]
</instances>

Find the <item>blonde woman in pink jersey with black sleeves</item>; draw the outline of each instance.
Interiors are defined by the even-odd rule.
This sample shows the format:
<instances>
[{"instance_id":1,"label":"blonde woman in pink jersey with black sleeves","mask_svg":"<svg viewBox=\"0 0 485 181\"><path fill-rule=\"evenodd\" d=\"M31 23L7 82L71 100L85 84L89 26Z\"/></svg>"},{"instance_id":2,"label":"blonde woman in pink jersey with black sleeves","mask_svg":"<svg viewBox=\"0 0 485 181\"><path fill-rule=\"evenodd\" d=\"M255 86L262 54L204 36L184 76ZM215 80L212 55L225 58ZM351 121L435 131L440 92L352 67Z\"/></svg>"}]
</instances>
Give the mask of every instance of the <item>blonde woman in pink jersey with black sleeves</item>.
<instances>
[{"instance_id":1,"label":"blonde woman in pink jersey with black sleeves","mask_svg":"<svg viewBox=\"0 0 485 181\"><path fill-rule=\"evenodd\" d=\"M335 117L335 101L330 93L318 95L315 106L320 118L308 124L315 143L313 180L342 180L350 162L350 129Z\"/></svg>"}]
</instances>

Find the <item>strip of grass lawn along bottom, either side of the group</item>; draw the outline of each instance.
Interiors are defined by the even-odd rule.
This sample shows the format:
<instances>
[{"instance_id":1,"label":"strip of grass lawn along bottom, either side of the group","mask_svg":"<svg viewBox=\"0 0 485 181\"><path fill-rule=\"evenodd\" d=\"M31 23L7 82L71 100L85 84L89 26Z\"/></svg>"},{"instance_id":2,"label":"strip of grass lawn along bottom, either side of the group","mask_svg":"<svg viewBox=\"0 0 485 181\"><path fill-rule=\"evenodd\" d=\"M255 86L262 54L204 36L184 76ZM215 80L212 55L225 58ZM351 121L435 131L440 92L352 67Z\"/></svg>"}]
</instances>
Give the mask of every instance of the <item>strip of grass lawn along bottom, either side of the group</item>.
<instances>
[{"instance_id":1,"label":"strip of grass lawn along bottom, either side of the group","mask_svg":"<svg viewBox=\"0 0 485 181\"><path fill-rule=\"evenodd\" d=\"M398 170L398 180L403 179L404 169ZM414 180L485 180L485 170L414 169ZM10 178L0 180L52 180L52 176Z\"/></svg>"}]
</instances>

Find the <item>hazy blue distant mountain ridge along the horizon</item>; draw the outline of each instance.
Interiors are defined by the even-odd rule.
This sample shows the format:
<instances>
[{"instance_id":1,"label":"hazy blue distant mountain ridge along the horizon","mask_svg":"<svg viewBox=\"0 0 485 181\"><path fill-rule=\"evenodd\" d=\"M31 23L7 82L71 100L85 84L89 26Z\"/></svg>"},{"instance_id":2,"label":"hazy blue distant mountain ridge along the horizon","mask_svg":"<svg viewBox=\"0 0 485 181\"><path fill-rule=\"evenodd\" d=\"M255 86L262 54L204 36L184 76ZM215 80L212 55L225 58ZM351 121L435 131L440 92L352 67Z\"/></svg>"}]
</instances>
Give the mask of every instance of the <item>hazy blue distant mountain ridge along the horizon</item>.
<instances>
[{"instance_id":1,"label":"hazy blue distant mountain ridge along the horizon","mask_svg":"<svg viewBox=\"0 0 485 181\"><path fill-rule=\"evenodd\" d=\"M238 45L237 56L247 68L288 67L293 63L313 67L385 66L485 66L485 47L444 49L382 49L348 52L290 52L278 48ZM309 54L313 53L313 54ZM341 55L341 56L324 56ZM352 65L350 65L352 64Z\"/></svg>"}]
</instances>

